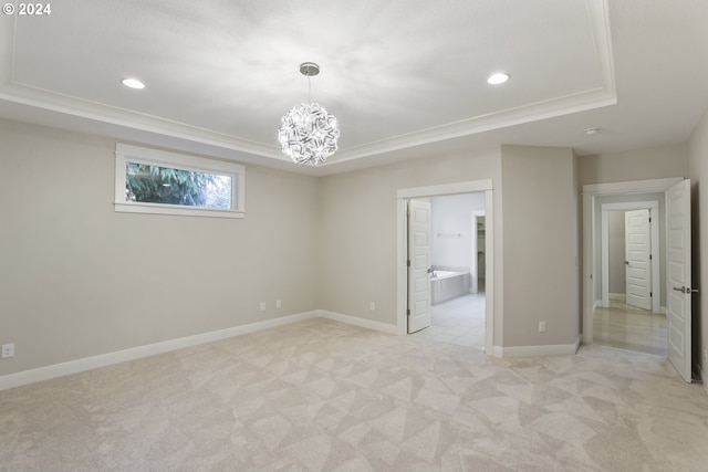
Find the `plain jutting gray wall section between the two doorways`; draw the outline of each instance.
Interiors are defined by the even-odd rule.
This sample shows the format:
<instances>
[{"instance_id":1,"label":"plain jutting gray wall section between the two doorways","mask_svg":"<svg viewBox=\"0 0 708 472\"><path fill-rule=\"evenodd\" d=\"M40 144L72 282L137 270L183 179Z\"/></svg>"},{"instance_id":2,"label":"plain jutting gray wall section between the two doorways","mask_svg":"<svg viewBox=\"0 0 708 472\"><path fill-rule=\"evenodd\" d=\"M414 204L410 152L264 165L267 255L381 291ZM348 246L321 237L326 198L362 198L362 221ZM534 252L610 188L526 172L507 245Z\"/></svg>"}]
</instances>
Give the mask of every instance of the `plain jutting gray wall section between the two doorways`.
<instances>
[{"instance_id":1,"label":"plain jutting gray wall section between the two doorways","mask_svg":"<svg viewBox=\"0 0 708 472\"><path fill-rule=\"evenodd\" d=\"M580 333L575 156L502 146L501 161L503 346L572 345Z\"/></svg>"}]
</instances>

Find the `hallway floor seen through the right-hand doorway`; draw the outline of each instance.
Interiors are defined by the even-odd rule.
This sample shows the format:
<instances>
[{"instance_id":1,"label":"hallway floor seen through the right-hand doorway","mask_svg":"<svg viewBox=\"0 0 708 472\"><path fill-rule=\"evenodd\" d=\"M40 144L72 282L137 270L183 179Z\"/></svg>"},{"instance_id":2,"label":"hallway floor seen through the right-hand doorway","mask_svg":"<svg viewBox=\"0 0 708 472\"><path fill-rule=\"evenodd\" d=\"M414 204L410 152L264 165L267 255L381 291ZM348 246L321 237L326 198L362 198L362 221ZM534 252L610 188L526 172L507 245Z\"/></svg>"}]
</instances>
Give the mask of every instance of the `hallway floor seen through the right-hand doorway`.
<instances>
[{"instance_id":1,"label":"hallway floor seen through the right-hand doorway","mask_svg":"<svg viewBox=\"0 0 708 472\"><path fill-rule=\"evenodd\" d=\"M593 340L605 346L666 356L667 333L666 315L620 300L611 300L608 308L595 308L593 315Z\"/></svg>"}]
</instances>

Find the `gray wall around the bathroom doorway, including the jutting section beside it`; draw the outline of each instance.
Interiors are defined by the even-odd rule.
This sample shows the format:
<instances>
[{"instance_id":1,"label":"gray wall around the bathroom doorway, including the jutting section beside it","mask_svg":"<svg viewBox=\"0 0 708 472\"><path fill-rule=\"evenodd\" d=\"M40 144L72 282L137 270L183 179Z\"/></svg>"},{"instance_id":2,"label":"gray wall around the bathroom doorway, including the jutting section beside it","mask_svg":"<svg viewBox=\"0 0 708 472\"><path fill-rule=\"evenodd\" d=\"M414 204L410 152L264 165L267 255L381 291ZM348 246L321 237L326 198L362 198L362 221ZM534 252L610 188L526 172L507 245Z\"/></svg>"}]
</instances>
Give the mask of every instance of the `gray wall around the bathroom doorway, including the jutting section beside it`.
<instances>
[{"instance_id":1,"label":"gray wall around the bathroom doorway, including the jutting section beside it","mask_svg":"<svg viewBox=\"0 0 708 472\"><path fill-rule=\"evenodd\" d=\"M395 324L396 190L491 178L494 345L572 345L579 334L574 172L571 149L502 146L323 178L322 307ZM369 301L381 310L371 312ZM539 321L546 333L538 332Z\"/></svg>"}]
</instances>

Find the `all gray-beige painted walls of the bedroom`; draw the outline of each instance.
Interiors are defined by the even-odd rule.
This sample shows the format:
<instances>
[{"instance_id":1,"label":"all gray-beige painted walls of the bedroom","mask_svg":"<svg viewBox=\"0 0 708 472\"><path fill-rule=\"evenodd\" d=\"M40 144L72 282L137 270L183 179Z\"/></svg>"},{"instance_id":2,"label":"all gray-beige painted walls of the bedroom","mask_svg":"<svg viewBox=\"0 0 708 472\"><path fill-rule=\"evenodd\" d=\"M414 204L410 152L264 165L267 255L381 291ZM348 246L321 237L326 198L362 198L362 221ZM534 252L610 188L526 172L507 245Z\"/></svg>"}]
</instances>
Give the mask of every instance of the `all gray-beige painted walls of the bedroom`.
<instances>
[{"instance_id":1,"label":"all gray-beige painted walls of the bedroom","mask_svg":"<svg viewBox=\"0 0 708 472\"><path fill-rule=\"evenodd\" d=\"M395 324L396 190L480 179L494 187L494 345L571 344L576 183L688 171L687 145L580 159L501 146L319 179L247 166L247 218L217 220L114 212L113 140L2 120L0 146L0 343L17 349L0 375L315 308ZM699 202L707 155L704 118Z\"/></svg>"}]
</instances>

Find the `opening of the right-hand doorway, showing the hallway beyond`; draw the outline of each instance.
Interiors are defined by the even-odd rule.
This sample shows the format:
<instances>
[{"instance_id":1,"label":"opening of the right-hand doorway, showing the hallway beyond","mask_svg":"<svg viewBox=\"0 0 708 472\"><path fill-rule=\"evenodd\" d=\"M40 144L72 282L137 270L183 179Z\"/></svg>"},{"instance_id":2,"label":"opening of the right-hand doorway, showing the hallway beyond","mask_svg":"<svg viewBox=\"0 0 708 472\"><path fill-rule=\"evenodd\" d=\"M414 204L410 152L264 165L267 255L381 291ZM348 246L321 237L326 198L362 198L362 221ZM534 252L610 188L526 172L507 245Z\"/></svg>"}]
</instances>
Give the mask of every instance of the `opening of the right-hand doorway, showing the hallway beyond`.
<instances>
[{"instance_id":1,"label":"opening of the right-hand doorway, showing the hallway beyond","mask_svg":"<svg viewBox=\"0 0 708 472\"><path fill-rule=\"evenodd\" d=\"M603 196L596 202L601 294L593 313L594 342L665 357L664 195Z\"/></svg>"}]
</instances>

